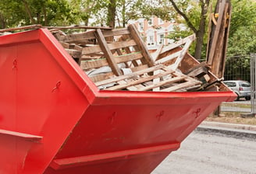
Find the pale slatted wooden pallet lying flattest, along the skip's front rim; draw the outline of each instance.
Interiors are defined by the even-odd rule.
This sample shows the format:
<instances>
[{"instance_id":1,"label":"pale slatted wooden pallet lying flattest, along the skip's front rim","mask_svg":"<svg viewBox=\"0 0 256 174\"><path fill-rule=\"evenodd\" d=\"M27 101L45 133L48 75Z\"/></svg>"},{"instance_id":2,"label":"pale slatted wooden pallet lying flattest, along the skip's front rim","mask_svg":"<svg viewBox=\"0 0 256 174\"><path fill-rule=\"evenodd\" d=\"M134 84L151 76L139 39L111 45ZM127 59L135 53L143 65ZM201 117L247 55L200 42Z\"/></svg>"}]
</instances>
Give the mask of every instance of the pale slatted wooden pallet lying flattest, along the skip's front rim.
<instances>
[{"instance_id":1,"label":"pale slatted wooden pallet lying flattest, along the skip's front rim","mask_svg":"<svg viewBox=\"0 0 256 174\"><path fill-rule=\"evenodd\" d=\"M154 71L158 73L154 74ZM152 75L151 75L152 74ZM155 79L159 79L157 83ZM151 68L135 71L128 75L121 75L109 78L100 82L95 82L98 87L115 83L116 85L106 87L106 90L132 90L132 91L151 91L159 87L160 92L186 91L196 85L201 85L200 81L183 75L177 71L166 68L158 64ZM167 86L167 87L166 87Z\"/></svg>"}]
</instances>

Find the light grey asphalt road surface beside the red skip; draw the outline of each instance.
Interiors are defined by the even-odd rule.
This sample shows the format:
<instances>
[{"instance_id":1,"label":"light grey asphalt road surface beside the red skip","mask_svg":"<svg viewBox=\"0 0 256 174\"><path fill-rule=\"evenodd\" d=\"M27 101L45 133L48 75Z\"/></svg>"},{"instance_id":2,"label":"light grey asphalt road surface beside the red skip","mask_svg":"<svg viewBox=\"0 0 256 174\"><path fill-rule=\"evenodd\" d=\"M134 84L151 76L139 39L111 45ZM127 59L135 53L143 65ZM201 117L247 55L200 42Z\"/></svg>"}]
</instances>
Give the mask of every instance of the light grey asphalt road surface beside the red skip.
<instances>
[{"instance_id":1,"label":"light grey asphalt road surface beside the red skip","mask_svg":"<svg viewBox=\"0 0 256 174\"><path fill-rule=\"evenodd\" d=\"M256 140L193 132L151 174L256 174Z\"/></svg>"}]
</instances>

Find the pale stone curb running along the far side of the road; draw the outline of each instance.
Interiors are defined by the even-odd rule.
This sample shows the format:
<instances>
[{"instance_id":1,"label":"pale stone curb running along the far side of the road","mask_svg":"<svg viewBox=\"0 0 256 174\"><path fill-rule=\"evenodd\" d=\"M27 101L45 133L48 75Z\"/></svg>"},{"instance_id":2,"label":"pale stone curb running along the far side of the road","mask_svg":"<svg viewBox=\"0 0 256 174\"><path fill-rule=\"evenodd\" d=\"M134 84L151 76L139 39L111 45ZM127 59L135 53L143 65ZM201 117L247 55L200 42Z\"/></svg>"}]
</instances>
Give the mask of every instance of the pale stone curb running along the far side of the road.
<instances>
[{"instance_id":1,"label":"pale stone curb running along the far side of the road","mask_svg":"<svg viewBox=\"0 0 256 174\"><path fill-rule=\"evenodd\" d=\"M204 121L195 129L195 131L242 139L252 139L256 141L256 126L251 125L223 124Z\"/></svg>"}]
</instances>

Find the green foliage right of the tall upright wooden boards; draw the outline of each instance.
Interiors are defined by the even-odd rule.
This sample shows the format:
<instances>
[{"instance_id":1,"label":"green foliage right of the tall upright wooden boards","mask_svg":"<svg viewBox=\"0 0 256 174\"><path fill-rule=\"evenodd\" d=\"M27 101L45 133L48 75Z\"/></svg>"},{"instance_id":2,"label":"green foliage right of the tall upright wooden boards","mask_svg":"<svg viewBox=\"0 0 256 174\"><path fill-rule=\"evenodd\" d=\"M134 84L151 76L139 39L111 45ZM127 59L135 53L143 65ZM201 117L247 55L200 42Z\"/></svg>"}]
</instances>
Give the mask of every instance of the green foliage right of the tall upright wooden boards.
<instances>
[{"instance_id":1,"label":"green foliage right of the tall upright wooden boards","mask_svg":"<svg viewBox=\"0 0 256 174\"><path fill-rule=\"evenodd\" d=\"M228 56L256 52L256 2L233 1L233 13L229 34Z\"/></svg>"}]
</instances>

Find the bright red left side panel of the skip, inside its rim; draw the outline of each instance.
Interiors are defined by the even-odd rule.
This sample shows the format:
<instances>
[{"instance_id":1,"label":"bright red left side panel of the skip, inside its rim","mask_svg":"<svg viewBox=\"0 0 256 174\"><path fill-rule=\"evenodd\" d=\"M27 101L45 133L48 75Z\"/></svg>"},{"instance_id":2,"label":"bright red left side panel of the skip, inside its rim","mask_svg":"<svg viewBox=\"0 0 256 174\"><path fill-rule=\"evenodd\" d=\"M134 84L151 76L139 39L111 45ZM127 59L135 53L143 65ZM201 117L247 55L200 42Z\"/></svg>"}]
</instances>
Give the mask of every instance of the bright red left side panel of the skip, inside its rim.
<instances>
[{"instance_id":1,"label":"bright red left side panel of the skip, inside its rim","mask_svg":"<svg viewBox=\"0 0 256 174\"><path fill-rule=\"evenodd\" d=\"M39 41L0 47L0 82L1 173L42 173L89 103Z\"/></svg>"}]
</instances>

